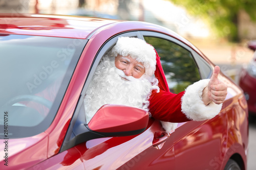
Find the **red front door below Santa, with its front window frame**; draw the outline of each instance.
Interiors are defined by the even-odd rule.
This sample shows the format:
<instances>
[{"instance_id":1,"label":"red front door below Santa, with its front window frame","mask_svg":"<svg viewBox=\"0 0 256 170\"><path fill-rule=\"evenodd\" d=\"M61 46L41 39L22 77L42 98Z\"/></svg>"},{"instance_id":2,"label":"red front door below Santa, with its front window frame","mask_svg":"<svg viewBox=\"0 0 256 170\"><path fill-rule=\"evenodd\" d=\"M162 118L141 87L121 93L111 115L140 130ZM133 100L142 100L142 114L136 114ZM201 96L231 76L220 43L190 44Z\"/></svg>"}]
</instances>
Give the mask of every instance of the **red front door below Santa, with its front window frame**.
<instances>
[{"instance_id":1,"label":"red front door below Santa, with its front window frame","mask_svg":"<svg viewBox=\"0 0 256 170\"><path fill-rule=\"evenodd\" d=\"M138 32L125 33L119 36L140 37ZM66 139L63 141L61 153L63 151L67 152L65 156L67 157L67 164L81 160L85 169L174 168L173 141L170 138L172 132L164 133L165 131L159 120L155 120L154 118L149 118L146 130L138 135L98 138L82 142L72 148L66 147L66 145L70 145L71 143L68 138L69 136L72 137L72 128L80 119L79 116L86 114L83 106L83 96L86 94L94 71L102 56L114 46L119 36L106 41L98 51L87 82L84 85L81 98L77 104L76 112L71 120ZM90 40L88 44L92 44ZM163 133L163 136L158 137L155 133Z\"/></svg>"}]
</instances>

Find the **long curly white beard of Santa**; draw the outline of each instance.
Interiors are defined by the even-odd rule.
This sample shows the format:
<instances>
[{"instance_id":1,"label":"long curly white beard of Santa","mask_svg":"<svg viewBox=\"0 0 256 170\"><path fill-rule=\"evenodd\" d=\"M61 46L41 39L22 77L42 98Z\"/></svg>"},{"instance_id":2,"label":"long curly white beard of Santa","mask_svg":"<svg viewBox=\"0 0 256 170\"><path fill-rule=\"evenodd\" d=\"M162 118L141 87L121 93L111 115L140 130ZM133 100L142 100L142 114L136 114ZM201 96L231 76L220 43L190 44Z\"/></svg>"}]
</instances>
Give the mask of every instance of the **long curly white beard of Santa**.
<instances>
[{"instance_id":1,"label":"long curly white beard of Santa","mask_svg":"<svg viewBox=\"0 0 256 170\"><path fill-rule=\"evenodd\" d=\"M114 57L105 56L96 68L84 96L87 123L105 104L133 106L148 111L148 98L151 91L159 90L156 78L152 79L145 75L139 79L132 76L126 77L122 70L115 67L114 60Z\"/></svg>"}]
</instances>

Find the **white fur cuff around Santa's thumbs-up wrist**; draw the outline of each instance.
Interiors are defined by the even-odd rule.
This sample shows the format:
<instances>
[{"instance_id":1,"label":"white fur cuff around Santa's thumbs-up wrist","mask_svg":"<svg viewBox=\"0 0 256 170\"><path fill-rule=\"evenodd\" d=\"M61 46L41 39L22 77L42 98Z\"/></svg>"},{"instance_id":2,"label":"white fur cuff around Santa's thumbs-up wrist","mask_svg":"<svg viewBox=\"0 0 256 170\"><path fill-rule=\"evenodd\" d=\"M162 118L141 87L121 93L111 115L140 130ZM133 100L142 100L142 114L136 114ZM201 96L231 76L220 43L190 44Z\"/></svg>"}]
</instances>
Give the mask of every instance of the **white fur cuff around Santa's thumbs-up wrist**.
<instances>
[{"instance_id":1,"label":"white fur cuff around Santa's thumbs-up wrist","mask_svg":"<svg viewBox=\"0 0 256 170\"><path fill-rule=\"evenodd\" d=\"M181 98L181 111L187 118L201 121L215 117L221 111L222 104L210 102L205 106L202 101L203 89L207 87L210 79L200 80L186 88Z\"/></svg>"}]
</instances>

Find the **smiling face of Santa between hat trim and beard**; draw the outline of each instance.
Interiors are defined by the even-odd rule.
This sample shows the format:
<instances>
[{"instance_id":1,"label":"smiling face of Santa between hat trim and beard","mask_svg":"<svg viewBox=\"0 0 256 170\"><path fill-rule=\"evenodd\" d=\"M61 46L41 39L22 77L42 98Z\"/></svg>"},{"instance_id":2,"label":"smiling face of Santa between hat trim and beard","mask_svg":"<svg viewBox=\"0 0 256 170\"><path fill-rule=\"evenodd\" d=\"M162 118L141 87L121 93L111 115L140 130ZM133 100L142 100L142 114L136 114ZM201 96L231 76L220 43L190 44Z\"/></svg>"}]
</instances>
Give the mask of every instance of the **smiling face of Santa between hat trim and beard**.
<instances>
[{"instance_id":1,"label":"smiling face of Santa between hat trim and beard","mask_svg":"<svg viewBox=\"0 0 256 170\"><path fill-rule=\"evenodd\" d=\"M115 58L115 66L122 70L126 76L132 76L136 79L139 79L145 73L143 64L130 56L118 55Z\"/></svg>"}]
</instances>

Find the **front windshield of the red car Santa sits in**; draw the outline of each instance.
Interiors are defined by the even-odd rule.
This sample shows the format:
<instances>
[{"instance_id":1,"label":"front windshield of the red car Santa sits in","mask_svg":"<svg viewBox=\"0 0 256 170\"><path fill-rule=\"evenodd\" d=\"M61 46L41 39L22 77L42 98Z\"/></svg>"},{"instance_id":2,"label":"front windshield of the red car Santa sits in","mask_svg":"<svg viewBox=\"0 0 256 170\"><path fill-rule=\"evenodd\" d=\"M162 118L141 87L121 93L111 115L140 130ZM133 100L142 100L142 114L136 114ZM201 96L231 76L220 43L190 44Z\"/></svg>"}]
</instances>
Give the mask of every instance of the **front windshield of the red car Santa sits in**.
<instances>
[{"instance_id":1,"label":"front windshield of the red car Santa sits in","mask_svg":"<svg viewBox=\"0 0 256 170\"><path fill-rule=\"evenodd\" d=\"M0 128L8 127L8 138L33 136L51 125L85 44L0 34Z\"/></svg>"}]
</instances>

